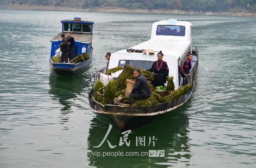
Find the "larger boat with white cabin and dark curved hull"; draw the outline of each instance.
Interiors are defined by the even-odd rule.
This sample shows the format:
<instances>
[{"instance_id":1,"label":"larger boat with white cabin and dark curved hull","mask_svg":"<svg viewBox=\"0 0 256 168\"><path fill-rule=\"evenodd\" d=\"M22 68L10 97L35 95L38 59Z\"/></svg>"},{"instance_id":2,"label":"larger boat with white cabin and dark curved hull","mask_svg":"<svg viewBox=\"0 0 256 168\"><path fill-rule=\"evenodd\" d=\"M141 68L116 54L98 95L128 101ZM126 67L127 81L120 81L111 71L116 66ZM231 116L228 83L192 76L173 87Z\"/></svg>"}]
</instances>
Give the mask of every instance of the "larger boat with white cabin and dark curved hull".
<instances>
[{"instance_id":1,"label":"larger boat with white cabin and dark curved hull","mask_svg":"<svg viewBox=\"0 0 256 168\"><path fill-rule=\"evenodd\" d=\"M154 120L154 118L167 112L171 112L175 108L186 103L193 92L198 69L198 48L195 47L195 50L192 51L191 33L192 24L190 22L162 20L152 24L150 40L132 47L135 50L151 48L156 53L162 50L164 53L163 60L166 61L169 66L169 76L174 77L175 89L186 84L192 85L192 88L187 94L170 102L158 103L154 106L128 107L123 104L100 104L94 100L92 96L94 89L92 89L89 93L89 102L92 111L95 114L107 116L120 128L120 130L126 130L146 124ZM193 54L190 76L184 79L181 77L181 80L179 81L180 74L178 74L178 65L183 65L188 52ZM156 54L150 55L121 50L111 55L109 68L130 64L134 67L149 69L155 60L157 60ZM106 68L99 70L94 74L94 82L98 80L99 73L104 73L105 70Z\"/></svg>"}]
</instances>

